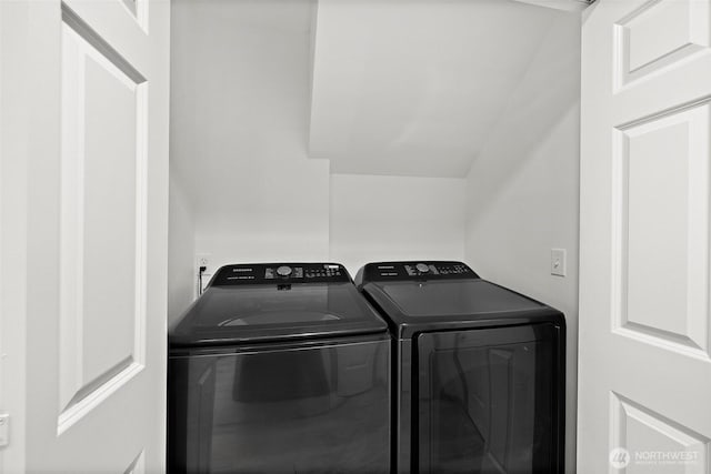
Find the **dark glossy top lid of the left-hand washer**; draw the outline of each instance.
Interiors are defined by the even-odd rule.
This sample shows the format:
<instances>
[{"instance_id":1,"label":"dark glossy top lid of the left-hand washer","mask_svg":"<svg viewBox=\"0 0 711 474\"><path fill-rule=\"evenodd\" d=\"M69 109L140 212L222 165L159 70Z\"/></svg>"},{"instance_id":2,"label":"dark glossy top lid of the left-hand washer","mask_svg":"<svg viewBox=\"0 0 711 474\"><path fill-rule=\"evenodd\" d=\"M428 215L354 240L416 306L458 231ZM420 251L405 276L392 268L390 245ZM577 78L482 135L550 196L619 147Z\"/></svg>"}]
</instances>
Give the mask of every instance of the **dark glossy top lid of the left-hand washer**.
<instances>
[{"instance_id":1,"label":"dark glossy top lid of the left-hand washer","mask_svg":"<svg viewBox=\"0 0 711 474\"><path fill-rule=\"evenodd\" d=\"M293 266L296 266L294 264ZM230 265L229 274L236 265ZM256 265L251 265L252 268ZM270 269L291 265L270 265ZM262 270L258 269L261 274ZM244 280L211 285L169 332L171 347L229 345L294 339L330 337L387 331L358 293L342 266L346 280L324 276L301 283L286 276L274 283ZM238 272L244 275L246 272ZM282 270L281 273L286 273Z\"/></svg>"}]
</instances>

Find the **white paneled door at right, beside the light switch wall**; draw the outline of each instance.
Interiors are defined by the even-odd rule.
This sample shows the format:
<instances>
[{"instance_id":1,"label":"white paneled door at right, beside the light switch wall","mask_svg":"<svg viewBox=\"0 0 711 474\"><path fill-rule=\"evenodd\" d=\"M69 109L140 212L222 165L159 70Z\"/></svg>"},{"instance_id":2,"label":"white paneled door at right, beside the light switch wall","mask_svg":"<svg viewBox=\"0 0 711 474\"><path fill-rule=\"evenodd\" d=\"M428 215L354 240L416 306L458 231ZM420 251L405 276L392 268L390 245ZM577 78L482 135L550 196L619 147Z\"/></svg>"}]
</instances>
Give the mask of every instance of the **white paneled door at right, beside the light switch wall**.
<instances>
[{"instance_id":1,"label":"white paneled door at right, beside the light switch wall","mask_svg":"<svg viewBox=\"0 0 711 474\"><path fill-rule=\"evenodd\" d=\"M705 474L710 1L585 14L578 471Z\"/></svg>"}]
</instances>

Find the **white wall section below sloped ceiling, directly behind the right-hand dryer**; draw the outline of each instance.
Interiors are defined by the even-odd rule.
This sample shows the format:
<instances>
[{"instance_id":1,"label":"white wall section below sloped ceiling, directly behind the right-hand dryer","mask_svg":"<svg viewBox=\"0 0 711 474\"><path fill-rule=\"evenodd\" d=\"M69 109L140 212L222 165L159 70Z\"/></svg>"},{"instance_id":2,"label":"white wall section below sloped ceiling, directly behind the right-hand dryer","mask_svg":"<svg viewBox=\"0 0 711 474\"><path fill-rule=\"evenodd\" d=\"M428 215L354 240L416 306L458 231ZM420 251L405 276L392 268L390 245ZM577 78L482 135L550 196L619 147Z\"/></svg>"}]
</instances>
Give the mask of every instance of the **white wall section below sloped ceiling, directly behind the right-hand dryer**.
<instances>
[{"instance_id":1,"label":"white wall section below sloped ceiling, directly behind the right-hand dryer","mask_svg":"<svg viewBox=\"0 0 711 474\"><path fill-rule=\"evenodd\" d=\"M462 260L467 181L331 175L330 260L354 276L381 260Z\"/></svg>"}]
</instances>

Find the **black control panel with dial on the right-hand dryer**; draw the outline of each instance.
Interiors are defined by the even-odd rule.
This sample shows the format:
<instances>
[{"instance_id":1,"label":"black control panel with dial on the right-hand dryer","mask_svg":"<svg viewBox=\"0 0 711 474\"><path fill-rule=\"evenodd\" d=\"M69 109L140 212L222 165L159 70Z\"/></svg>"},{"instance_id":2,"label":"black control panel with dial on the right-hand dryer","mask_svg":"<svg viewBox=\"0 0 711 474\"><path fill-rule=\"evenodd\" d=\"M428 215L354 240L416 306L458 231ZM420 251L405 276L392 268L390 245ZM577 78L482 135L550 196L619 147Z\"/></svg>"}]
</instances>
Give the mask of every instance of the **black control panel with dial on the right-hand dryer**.
<instances>
[{"instance_id":1,"label":"black control panel with dial on the right-hand dryer","mask_svg":"<svg viewBox=\"0 0 711 474\"><path fill-rule=\"evenodd\" d=\"M369 263L362 272L362 283L369 281L461 280L479 278L465 263L443 261Z\"/></svg>"}]
</instances>

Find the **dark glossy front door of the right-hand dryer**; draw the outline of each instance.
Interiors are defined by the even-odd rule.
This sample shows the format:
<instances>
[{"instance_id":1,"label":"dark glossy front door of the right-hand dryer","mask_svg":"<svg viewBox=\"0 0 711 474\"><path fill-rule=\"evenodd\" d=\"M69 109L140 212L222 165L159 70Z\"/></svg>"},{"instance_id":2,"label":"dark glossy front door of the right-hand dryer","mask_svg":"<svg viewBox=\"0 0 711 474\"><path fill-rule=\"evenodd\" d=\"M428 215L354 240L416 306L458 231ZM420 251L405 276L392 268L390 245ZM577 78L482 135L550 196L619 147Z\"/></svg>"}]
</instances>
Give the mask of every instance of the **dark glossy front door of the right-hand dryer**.
<instances>
[{"instance_id":1,"label":"dark glossy front door of the right-hand dryer","mask_svg":"<svg viewBox=\"0 0 711 474\"><path fill-rule=\"evenodd\" d=\"M532 324L420 334L412 471L561 472L558 332Z\"/></svg>"}]
</instances>

